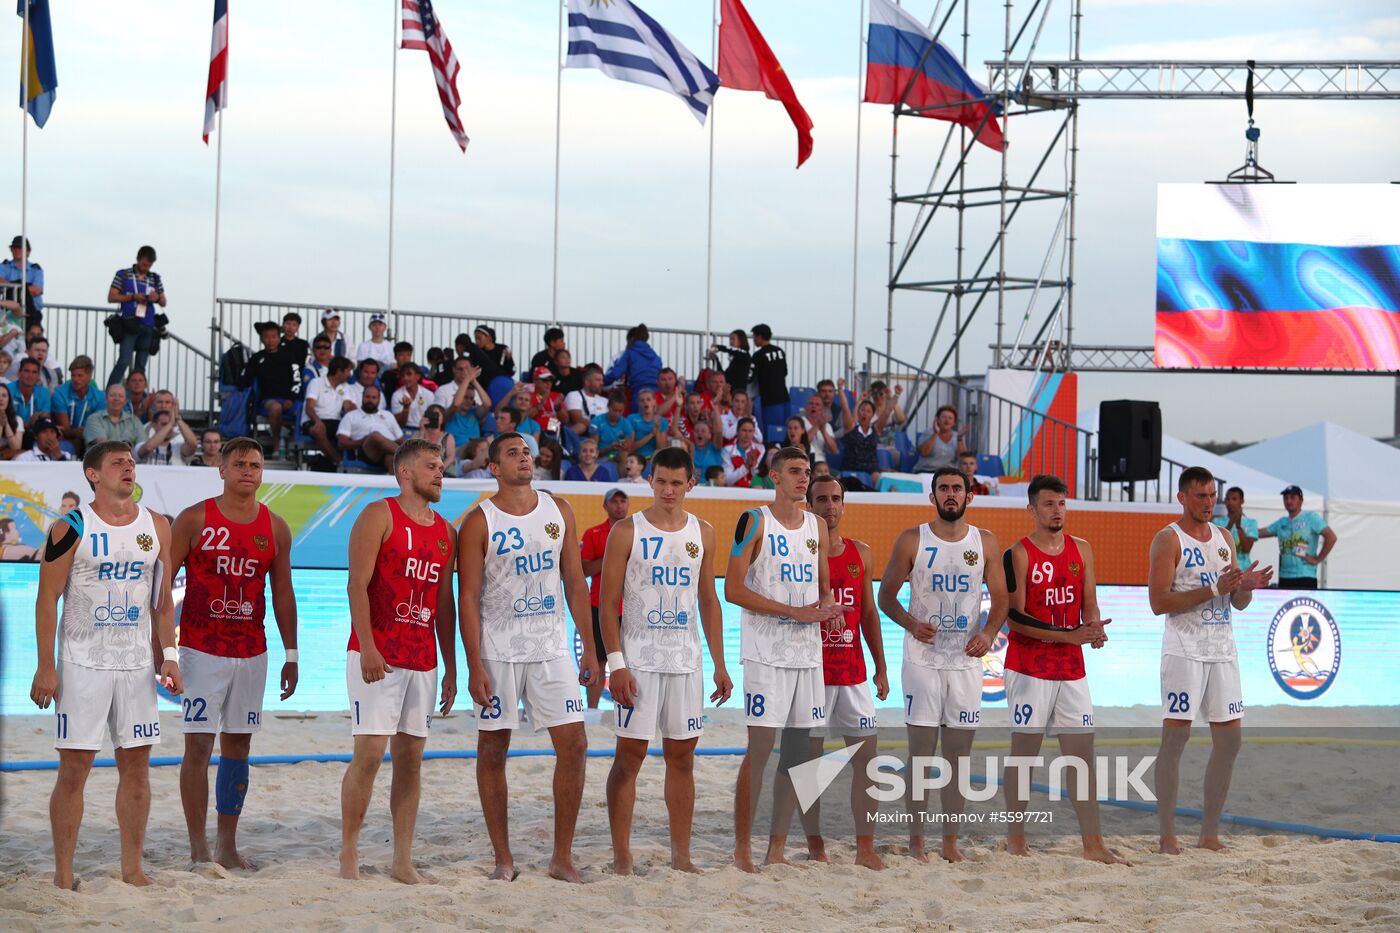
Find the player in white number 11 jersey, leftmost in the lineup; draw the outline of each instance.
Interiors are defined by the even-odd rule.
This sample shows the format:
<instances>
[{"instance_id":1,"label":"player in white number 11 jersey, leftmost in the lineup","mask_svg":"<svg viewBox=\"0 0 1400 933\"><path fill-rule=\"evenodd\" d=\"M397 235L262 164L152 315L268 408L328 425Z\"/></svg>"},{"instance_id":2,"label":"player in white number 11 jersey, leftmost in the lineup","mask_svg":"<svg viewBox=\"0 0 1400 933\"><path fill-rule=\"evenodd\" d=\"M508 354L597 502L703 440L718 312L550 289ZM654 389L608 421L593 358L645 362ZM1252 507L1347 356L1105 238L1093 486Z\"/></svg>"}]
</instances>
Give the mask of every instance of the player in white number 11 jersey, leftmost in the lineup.
<instances>
[{"instance_id":1,"label":"player in white number 11 jersey, leftmost in the lineup","mask_svg":"<svg viewBox=\"0 0 1400 933\"><path fill-rule=\"evenodd\" d=\"M171 601L171 528L132 497L136 459L130 444L94 444L83 457L83 475L92 502L49 530L34 607L39 665L29 698L39 709L56 700L59 776L49 799L53 884L77 887L73 853L83 824L83 789L105 727L116 748L122 880L146 885L151 881L141 867L141 843L151 810L150 752L161 741L154 671L172 693L183 689ZM153 629L160 661L151 653Z\"/></svg>"}]
</instances>

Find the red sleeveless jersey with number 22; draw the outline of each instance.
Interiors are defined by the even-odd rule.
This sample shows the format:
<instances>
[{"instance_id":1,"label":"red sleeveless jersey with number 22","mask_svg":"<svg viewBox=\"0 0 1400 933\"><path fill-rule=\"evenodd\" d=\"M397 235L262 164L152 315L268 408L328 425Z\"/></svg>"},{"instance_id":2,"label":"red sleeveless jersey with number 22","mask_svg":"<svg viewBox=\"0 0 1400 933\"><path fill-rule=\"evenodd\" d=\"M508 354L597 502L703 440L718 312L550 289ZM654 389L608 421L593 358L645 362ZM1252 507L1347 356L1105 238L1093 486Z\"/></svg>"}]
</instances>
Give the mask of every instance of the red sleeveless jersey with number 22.
<instances>
[{"instance_id":1,"label":"red sleeveless jersey with number 22","mask_svg":"<svg viewBox=\"0 0 1400 933\"><path fill-rule=\"evenodd\" d=\"M248 524L230 521L204 500L204 525L185 558L179 643L218 657L256 657L267 650L263 615L267 570L277 556L272 513L258 506Z\"/></svg>"}]
</instances>

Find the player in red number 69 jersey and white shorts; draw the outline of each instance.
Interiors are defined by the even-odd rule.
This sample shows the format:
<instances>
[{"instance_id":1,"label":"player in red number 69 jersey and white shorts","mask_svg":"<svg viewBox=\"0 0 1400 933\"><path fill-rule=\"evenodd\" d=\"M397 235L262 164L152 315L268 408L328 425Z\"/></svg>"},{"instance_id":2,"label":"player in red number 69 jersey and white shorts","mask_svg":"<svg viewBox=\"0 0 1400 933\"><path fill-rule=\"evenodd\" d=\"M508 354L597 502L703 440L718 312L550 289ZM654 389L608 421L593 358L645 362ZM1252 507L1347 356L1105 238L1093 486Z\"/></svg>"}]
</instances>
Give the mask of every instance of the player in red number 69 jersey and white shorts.
<instances>
[{"instance_id":1,"label":"player in red number 69 jersey and white shorts","mask_svg":"<svg viewBox=\"0 0 1400 933\"><path fill-rule=\"evenodd\" d=\"M1070 779L1070 799L1079 820L1084 857L1107 864L1128 864L1103 842L1099 803L1093 787L1093 703L1084 675L1084 646L1103 647L1093 576L1093 549L1084 538L1064 532L1070 488L1058 476L1032 478L1028 511L1035 531L1011 545L1007 588L1011 595L1011 633L1007 644L1007 706L1011 710L1011 761L1040 754L1047 727L1060 737L1060 754L1084 762L1088 780ZM1078 769L1070 769L1074 773ZM1030 855L1025 813L1030 773L1008 763L1004 787L1007 850Z\"/></svg>"}]
</instances>

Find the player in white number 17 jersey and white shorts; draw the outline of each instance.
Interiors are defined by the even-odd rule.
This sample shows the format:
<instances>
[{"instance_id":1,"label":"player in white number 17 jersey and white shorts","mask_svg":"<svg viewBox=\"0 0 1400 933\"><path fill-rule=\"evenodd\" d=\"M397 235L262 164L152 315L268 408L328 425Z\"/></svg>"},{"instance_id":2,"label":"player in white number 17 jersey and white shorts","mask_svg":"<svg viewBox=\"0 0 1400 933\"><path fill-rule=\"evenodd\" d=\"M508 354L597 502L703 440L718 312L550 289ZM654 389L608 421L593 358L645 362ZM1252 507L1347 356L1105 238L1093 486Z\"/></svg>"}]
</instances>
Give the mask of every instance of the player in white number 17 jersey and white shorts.
<instances>
[{"instance_id":1,"label":"player in white number 17 jersey and white shorts","mask_svg":"<svg viewBox=\"0 0 1400 933\"><path fill-rule=\"evenodd\" d=\"M704 728L701 626L714 667L710 702L729 699L734 684L724 665L724 619L714 593L714 528L685 510L686 492L694 485L690 454L680 447L657 451L650 482L651 506L623 518L608 534L598 601L608 647L608 689L617 716L617 754L608 773L613 870L631 874L637 772L659 733L666 761L671 867L699 874L690 860L690 822L694 751Z\"/></svg>"}]
</instances>

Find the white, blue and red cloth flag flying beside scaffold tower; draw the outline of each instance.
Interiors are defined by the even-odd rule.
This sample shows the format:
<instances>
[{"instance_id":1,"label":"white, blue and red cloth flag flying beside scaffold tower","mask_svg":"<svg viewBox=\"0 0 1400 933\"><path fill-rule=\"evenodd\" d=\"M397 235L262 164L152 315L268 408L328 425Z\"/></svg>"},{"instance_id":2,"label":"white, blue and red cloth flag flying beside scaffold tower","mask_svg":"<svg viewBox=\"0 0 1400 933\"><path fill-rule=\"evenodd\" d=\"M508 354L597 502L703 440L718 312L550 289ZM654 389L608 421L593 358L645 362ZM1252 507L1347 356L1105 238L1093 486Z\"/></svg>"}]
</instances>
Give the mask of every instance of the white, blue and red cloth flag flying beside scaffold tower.
<instances>
[{"instance_id":1,"label":"white, blue and red cloth flag flying beside scaffold tower","mask_svg":"<svg viewBox=\"0 0 1400 933\"><path fill-rule=\"evenodd\" d=\"M962 123L977 134L979 143L1000 153L1002 136L997 116L1001 106L984 99L987 88L972 80L948 46L934 42L934 35L918 20L890 0L869 0L869 4L865 102L899 104L903 99L907 106L938 108L920 115ZM906 90L909 97L904 97Z\"/></svg>"}]
</instances>

